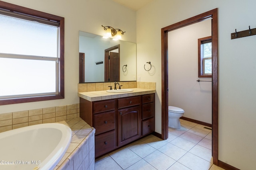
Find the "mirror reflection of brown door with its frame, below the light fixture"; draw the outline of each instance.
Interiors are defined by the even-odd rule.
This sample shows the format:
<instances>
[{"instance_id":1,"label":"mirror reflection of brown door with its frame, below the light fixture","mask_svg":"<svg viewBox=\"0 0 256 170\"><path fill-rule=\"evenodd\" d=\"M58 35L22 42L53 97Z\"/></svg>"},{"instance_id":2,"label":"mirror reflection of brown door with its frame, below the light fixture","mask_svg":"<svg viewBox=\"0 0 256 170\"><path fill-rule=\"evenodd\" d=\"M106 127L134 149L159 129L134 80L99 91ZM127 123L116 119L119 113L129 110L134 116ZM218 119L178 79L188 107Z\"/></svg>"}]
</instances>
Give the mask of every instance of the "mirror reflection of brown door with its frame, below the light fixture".
<instances>
[{"instance_id":1,"label":"mirror reflection of brown door with its frame, below the light fixture","mask_svg":"<svg viewBox=\"0 0 256 170\"><path fill-rule=\"evenodd\" d=\"M105 82L120 81L120 45L105 50Z\"/></svg>"}]
</instances>

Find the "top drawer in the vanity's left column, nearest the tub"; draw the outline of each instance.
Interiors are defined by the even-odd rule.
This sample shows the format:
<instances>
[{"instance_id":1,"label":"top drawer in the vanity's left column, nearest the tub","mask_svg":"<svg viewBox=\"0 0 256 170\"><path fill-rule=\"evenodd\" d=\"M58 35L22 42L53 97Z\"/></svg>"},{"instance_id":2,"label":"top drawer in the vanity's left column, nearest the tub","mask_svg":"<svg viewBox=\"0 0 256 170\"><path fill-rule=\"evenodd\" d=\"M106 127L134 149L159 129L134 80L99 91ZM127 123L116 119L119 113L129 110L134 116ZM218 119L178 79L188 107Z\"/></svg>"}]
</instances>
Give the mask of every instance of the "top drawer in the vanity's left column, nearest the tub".
<instances>
[{"instance_id":1,"label":"top drawer in the vanity's left column, nearest the tub","mask_svg":"<svg viewBox=\"0 0 256 170\"><path fill-rule=\"evenodd\" d=\"M94 102L94 113L109 111L115 109L115 100L106 100L101 102Z\"/></svg>"}]
</instances>

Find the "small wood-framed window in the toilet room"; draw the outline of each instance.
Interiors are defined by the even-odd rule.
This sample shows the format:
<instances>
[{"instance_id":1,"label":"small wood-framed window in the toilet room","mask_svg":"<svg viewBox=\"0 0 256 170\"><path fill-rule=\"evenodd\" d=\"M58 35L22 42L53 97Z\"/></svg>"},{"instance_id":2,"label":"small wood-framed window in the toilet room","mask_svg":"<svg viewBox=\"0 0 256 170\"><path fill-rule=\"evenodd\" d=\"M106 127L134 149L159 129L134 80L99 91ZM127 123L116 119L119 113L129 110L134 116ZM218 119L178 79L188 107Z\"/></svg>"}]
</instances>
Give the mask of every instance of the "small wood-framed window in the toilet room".
<instances>
[{"instance_id":1,"label":"small wood-framed window in the toilet room","mask_svg":"<svg viewBox=\"0 0 256 170\"><path fill-rule=\"evenodd\" d=\"M212 77L212 37L198 39L198 77Z\"/></svg>"}]
</instances>

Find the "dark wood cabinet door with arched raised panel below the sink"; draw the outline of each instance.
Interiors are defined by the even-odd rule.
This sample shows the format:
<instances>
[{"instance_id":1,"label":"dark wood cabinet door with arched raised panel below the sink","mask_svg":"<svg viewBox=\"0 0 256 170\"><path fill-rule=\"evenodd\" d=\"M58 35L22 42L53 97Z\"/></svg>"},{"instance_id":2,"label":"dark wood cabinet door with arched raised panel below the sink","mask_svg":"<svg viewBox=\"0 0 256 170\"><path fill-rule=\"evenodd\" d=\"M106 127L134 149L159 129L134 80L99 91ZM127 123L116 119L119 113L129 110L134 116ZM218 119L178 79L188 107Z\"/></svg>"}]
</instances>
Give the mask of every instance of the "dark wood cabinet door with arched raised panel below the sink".
<instances>
[{"instance_id":1,"label":"dark wood cabinet door with arched raised panel below the sink","mask_svg":"<svg viewBox=\"0 0 256 170\"><path fill-rule=\"evenodd\" d=\"M141 136L140 106L118 110L118 147Z\"/></svg>"}]
</instances>

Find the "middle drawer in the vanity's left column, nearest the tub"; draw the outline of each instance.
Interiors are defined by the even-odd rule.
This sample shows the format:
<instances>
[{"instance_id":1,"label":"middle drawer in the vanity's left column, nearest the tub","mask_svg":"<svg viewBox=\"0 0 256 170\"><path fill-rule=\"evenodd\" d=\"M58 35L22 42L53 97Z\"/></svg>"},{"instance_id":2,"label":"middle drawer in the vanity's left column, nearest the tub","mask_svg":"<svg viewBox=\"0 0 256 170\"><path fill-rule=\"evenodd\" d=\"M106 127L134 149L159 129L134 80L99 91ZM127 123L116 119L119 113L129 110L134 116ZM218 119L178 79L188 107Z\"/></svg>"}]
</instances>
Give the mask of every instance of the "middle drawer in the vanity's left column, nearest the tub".
<instances>
[{"instance_id":1,"label":"middle drawer in the vanity's left column, nearest the tub","mask_svg":"<svg viewBox=\"0 0 256 170\"><path fill-rule=\"evenodd\" d=\"M95 135L115 129L115 111L94 114Z\"/></svg>"}]
</instances>

